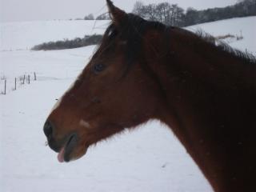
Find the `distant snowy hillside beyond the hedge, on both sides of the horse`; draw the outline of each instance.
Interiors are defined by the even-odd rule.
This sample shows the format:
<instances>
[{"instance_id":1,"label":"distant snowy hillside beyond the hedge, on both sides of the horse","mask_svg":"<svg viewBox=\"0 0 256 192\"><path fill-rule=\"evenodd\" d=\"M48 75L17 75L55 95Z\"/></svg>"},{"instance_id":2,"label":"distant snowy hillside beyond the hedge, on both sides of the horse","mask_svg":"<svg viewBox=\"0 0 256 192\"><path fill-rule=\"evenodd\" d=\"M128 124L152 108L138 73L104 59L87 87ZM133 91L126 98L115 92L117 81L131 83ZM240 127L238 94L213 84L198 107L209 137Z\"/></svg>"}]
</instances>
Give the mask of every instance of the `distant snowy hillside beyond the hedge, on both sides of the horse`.
<instances>
[{"instance_id":1,"label":"distant snowy hillside beyond the hedge, on both sides of the horse","mask_svg":"<svg viewBox=\"0 0 256 192\"><path fill-rule=\"evenodd\" d=\"M46 21L46 22L4 22L0 23L0 50L27 50L42 42L82 38L90 34L103 34L110 21ZM246 47L256 53L255 41L247 37L256 34L256 17L231 18L186 27L189 30L202 29L214 36L241 34L242 42L231 46Z\"/></svg>"}]
</instances>

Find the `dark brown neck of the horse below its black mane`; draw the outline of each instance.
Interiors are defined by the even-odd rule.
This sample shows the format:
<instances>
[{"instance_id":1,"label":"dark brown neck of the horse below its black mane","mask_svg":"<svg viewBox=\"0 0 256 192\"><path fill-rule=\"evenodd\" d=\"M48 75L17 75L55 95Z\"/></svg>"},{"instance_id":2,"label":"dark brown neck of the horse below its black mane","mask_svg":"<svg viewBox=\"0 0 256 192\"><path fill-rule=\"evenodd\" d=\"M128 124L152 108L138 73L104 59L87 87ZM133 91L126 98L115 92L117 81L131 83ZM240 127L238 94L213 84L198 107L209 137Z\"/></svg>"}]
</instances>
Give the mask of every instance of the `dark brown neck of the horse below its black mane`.
<instances>
[{"instance_id":1,"label":"dark brown neck of the horse below its black mane","mask_svg":"<svg viewBox=\"0 0 256 192\"><path fill-rule=\"evenodd\" d=\"M230 190L232 182L242 185L238 180L244 179L243 170L233 160L243 152L231 153L230 145L247 147L244 138L253 141L250 135L256 134L251 119L256 117L256 65L245 66L185 30L171 32L145 45L147 65L166 98L158 118L171 127L216 191ZM241 133L243 126L249 127L248 133ZM256 154L251 155L250 162L256 161Z\"/></svg>"}]
</instances>

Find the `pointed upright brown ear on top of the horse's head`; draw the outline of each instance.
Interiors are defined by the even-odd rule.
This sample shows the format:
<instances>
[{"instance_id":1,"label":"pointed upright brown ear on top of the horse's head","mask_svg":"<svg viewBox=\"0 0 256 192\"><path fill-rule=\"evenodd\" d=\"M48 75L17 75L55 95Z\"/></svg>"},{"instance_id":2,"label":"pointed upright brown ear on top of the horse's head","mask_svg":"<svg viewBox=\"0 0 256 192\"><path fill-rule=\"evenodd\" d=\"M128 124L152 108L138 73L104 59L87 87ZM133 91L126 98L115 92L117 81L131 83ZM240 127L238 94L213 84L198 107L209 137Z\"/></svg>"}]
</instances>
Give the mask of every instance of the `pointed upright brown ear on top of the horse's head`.
<instances>
[{"instance_id":1,"label":"pointed upright brown ear on top of the horse's head","mask_svg":"<svg viewBox=\"0 0 256 192\"><path fill-rule=\"evenodd\" d=\"M126 19L126 12L120 10L118 7L114 6L113 2L106 0L106 5L109 8L110 18L115 25L119 26L122 24L124 19Z\"/></svg>"}]
</instances>

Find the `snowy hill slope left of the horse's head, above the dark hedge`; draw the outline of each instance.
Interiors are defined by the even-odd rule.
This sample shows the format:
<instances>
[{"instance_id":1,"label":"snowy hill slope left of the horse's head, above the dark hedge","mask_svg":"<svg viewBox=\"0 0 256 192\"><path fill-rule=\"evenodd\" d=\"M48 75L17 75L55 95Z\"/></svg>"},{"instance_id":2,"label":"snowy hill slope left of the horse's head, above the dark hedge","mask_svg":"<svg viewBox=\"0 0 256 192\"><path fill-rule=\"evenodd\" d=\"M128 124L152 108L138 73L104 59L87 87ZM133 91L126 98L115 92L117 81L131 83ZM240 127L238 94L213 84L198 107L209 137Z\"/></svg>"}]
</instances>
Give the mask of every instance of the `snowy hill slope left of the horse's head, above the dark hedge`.
<instances>
[{"instance_id":1,"label":"snowy hill slope left of the horse's head, above the dark hedge","mask_svg":"<svg viewBox=\"0 0 256 192\"><path fill-rule=\"evenodd\" d=\"M40 21L0 23L0 50L27 50L42 42L83 38L90 34L103 34L109 21Z\"/></svg>"}]
</instances>

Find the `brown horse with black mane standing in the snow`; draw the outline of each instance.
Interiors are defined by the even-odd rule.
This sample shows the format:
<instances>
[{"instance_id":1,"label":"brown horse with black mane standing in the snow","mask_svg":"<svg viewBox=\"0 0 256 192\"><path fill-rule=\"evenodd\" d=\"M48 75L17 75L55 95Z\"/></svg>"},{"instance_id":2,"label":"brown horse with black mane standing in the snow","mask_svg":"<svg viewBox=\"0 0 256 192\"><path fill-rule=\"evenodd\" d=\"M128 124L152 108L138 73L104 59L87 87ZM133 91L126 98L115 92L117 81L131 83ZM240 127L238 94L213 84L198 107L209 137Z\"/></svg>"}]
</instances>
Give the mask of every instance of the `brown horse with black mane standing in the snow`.
<instances>
[{"instance_id":1,"label":"brown horse with black mane standing in the snow","mask_svg":"<svg viewBox=\"0 0 256 192\"><path fill-rule=\"evenodd\" d=\"M256 191L254 56L106 2L112 23L44 126L58 160L159 119L215 191Z\"/></svg>"}]
</instances>

